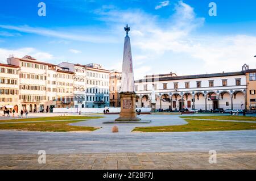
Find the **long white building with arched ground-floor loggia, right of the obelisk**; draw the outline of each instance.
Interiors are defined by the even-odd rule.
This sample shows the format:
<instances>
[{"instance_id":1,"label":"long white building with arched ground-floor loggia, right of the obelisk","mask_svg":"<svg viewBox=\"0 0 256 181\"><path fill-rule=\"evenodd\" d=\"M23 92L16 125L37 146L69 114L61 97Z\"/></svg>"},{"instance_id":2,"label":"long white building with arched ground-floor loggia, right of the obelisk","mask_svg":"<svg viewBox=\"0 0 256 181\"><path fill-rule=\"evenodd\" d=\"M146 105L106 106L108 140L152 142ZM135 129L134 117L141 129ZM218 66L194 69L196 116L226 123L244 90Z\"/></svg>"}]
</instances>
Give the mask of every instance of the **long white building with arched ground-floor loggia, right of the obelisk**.
<instances>
[{"instance_id":1,"label":"long white building with arched ground-floor loggia, right of the obelisk","mask_svg":"<svg viewBox=\"0 0 256 181\"><path fill-rule=\"evenodd\" d=\"M243 71L176 76L151 75L135 81L137 107L151 107L152 85L156 108L216 110L244 109L246 77Z\"/></svg>"}]
</instances>

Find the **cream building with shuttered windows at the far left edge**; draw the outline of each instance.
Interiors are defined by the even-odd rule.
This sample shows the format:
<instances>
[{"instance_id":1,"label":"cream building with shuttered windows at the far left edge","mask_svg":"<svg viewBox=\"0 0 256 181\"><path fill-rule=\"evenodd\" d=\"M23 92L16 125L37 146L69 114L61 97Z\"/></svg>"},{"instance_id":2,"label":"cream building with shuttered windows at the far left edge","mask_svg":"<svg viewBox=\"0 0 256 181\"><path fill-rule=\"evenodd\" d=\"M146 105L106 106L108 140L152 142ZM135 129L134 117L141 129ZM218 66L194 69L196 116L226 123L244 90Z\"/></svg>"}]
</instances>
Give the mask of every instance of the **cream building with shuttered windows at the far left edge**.
<instances>
[{"instance_id":1,"label":"cream building with shuttered windows at the far left edge","mask_svg":"<svg viewBox=\"0 0 256 181\"><path fill-rule=\"evenodd\" d=\"M0 110L19 107L19 66L0 64Z\"/></svg>"}]
</instances>

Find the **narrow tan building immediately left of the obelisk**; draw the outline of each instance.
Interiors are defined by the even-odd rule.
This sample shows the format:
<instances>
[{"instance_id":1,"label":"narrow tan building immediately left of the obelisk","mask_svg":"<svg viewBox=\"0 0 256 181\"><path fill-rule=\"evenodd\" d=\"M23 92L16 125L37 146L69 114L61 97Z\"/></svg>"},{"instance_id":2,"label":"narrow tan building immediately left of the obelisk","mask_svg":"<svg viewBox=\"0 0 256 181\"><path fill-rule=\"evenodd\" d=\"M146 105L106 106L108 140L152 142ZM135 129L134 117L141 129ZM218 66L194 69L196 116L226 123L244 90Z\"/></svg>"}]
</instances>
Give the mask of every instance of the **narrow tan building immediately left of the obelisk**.
<instances>
[{"instance_id":1,"label":"narrow tan building immediately left of the obelisk","mask_svg":"<svg viewBox=\"0 0 256 181\"><path fill-rule=\"evenodd\" d=\"M122 73L118 70L110 71L110 106L111 107L120 107L120 97L119 91L121 86L121 77Z\"/></svg>"}]
</instances>

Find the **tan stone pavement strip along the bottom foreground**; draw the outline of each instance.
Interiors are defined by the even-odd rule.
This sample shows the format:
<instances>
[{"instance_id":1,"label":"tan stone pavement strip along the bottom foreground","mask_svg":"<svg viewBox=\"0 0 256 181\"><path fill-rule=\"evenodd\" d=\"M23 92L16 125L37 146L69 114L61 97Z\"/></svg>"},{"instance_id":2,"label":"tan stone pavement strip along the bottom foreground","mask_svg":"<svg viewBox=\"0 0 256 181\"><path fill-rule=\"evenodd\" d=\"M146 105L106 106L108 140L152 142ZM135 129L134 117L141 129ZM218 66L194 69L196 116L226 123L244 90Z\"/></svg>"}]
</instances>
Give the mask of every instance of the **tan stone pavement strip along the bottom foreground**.
<instances>
[{"instance_id":1,"label":"tan stone pavement strip along the bottom foreground","mask_svg":"<svg viewBox=\"0 0 256 181\"><path fill-rule=\"evenodd\" d=\"M208 152L0 155L0 169L256 169L255 151L217 153L209 163Z\"/></svg>"}]
</instances>

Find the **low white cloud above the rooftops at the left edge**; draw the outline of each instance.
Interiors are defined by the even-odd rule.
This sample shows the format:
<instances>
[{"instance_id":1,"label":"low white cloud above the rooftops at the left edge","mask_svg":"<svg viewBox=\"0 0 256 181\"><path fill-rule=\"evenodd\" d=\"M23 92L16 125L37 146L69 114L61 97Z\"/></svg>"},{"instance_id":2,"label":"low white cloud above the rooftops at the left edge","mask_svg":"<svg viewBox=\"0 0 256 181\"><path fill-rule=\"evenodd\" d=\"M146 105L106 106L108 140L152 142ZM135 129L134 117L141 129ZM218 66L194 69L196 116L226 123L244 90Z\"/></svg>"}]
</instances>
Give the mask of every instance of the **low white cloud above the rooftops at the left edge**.
<instances>
[{"instance_id":1,"label":"low white cloud above the rooftops at the left edge","mask_svg":"<svg viewBox=\"0 0 256 181\"><path fill-rule=\"evenodd\" d=\"M30 55L35 57L39 61L50 61L53 60L53 55L47 52L39 51L35 48L19 48L19 49L5 49L0 48L0 61L6 63L6 58L13 54L15 57L24 57L25 55Z\"/></svg>"}]
</instances>

